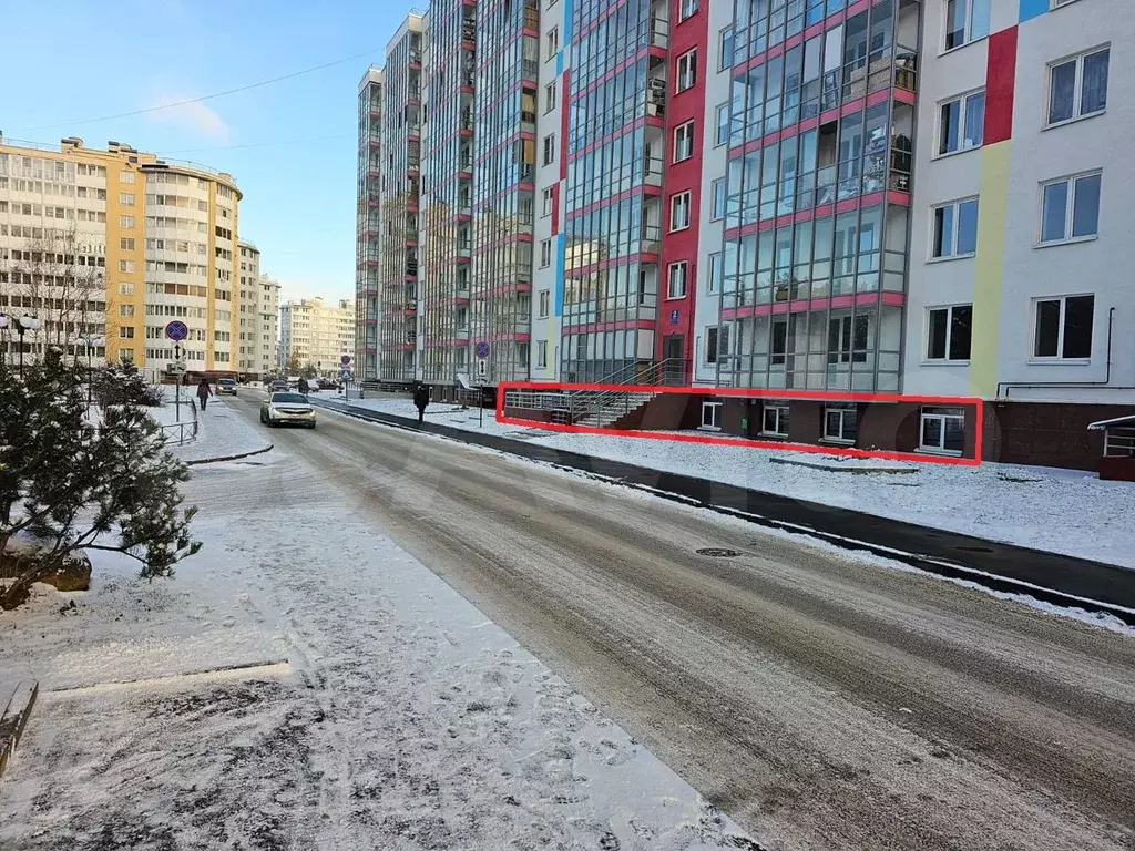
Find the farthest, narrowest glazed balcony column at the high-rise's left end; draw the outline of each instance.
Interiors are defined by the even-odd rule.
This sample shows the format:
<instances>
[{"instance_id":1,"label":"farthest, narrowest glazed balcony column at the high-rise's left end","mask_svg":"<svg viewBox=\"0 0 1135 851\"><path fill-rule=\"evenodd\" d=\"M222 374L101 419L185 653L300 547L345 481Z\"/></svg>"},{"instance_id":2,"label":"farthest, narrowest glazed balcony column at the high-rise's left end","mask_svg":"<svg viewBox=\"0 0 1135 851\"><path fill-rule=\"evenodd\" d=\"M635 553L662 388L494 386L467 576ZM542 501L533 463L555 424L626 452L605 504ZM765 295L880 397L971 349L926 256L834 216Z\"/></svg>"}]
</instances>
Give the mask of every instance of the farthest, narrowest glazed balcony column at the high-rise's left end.
<instances>
[{"instance_id":1,"label":"farthest, narrowest glazed balcony column at the high-rise's left end","mask_svg":"<svg viewBox=\"0 0 1135 851\"><path fill-rule=\"evenodd\" d=\"M355 369L373 381L378 369L378 321L382 231L382 71L368 68L359 82L359 182L355 210Z\"/></svg>"}]
</instances>

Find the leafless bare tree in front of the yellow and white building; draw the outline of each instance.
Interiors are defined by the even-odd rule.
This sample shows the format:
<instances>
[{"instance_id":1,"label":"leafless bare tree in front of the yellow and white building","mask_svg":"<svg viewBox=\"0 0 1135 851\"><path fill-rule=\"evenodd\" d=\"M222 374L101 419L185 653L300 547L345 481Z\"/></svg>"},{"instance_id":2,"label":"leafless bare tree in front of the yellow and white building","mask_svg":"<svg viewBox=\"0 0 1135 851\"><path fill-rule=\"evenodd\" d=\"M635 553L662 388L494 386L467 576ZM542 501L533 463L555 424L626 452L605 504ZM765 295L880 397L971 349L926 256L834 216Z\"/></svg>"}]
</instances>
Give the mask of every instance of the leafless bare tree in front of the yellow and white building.
<instances>
[{"instance_id":1,"label":"leafless bare tree in front of the yellow and white building","mask_svg":"<svg viewBox=\"0 0 1135 851\"><path fill-rule=\"evenodd\" d=\"M37 317L35 342L78 356L85 354L82 337L107 334L106 253L74 221L60 226L30 229L0 267L7 267L9 312Z\"/></svg>"}]
</instances>

